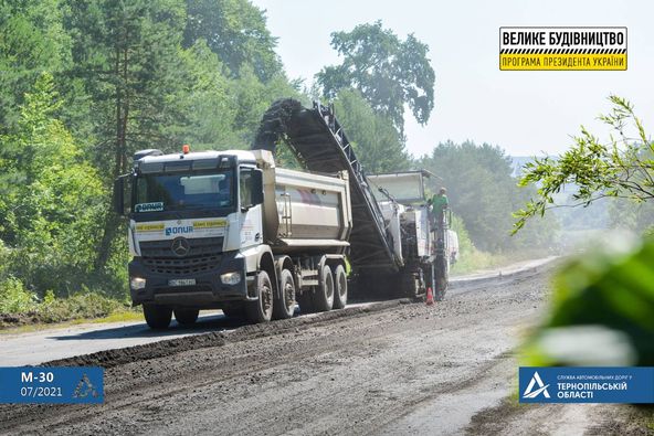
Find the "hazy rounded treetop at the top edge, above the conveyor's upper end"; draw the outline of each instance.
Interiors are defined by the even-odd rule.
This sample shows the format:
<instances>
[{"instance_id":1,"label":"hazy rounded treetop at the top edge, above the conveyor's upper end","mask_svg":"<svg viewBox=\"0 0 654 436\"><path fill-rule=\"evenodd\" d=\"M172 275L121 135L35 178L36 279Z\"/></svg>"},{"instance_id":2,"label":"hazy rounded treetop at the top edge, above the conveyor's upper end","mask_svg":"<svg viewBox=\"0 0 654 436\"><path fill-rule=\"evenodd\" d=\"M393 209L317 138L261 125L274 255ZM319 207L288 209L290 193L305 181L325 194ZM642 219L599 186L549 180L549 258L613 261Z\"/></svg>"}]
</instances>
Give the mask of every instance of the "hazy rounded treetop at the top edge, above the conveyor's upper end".
<instances>
[{"instance_id":1,"label":"hazy rounded treetop at the top edge, above the conveyor's upper end","mask_svg":"<svg viewBox=\"0 0 654 436\"><path fill-rule=\"evenodd\" d=\"M277 41L266 28L264 12L247 0L187 0L184 47L203 39L234 76L251 65L267 82L282 73Z\"/></svg>"}]
</instances>

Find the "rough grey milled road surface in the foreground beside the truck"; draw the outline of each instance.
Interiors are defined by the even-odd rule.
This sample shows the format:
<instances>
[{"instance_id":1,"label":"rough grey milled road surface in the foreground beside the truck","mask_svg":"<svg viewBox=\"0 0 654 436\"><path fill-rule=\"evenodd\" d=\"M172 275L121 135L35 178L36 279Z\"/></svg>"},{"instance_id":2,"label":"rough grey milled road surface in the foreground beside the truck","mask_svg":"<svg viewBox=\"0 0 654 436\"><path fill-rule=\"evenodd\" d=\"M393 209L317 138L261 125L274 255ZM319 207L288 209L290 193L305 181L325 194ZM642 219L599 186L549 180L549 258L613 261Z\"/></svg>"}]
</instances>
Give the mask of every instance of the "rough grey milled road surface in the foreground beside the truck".
<instances>
[{"instance_id":1,"label":"rough grey milled road surface in the foreground beside the truck","mask_svg":"<svg viewBox=\"0 0 654 436\"><path fill-rule=\"evenodd\" d=\"M105 366L105 404L0 405L0 434L578 434L598 407L507 400L549 269L59 361Z\"/></svg>"}]
</instances>

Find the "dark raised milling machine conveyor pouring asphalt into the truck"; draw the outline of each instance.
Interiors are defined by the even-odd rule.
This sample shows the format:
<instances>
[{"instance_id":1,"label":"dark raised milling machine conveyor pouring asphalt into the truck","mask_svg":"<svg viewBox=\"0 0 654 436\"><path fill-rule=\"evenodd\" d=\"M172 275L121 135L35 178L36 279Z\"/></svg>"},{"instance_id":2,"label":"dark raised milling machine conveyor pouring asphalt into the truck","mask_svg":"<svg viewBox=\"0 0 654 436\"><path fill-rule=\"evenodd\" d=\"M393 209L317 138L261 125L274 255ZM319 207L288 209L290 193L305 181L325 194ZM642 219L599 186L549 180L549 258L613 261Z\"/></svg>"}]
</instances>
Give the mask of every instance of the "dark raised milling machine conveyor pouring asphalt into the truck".
<instances>
[{"instance_id":1,"label":"dark raised milling machine conveyor pouring asphalt into the truck","mask_svg":"<svg viewBox=\"0 0 654 436\"><path fill-rule=\"evenodd\" d=\"M348 171L352 206L349 240L352 267L398 270L401 265L393 255L381 210L334 111L316 102L310 109L295 99L275 102L264 114L252 148L274 152L281 139L286 139L296 158L309 171Z\"/></svg>"}]
</instances>

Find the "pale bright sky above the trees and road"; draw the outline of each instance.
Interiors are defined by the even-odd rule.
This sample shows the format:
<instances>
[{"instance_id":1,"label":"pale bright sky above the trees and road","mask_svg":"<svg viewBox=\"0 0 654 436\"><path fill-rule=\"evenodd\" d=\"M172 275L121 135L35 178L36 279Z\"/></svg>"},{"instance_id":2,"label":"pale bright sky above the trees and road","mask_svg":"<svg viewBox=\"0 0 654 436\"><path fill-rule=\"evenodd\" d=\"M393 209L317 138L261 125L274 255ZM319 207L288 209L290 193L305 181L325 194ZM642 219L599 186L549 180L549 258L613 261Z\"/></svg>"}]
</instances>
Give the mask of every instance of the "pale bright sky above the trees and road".
<instances>
[{"instance_id":1,"label":"pale bright sky above the trees and road","mask_svg":"<svg viewBox=\"0 0 654 436\"><path fill-rule=\"evenodd\" d=\"M595 117L606 97L629 98L654 131L654 2L253 0L266 10L277 52L292 78L307 84L339 59L334 31L381 20L400 38L414 33L430 47L435 108L426 126L405 114L408 148L429 152L452 139L489 142L513 156L558 153L581 124L602 134ZM626 72L500 72L499 26L627 26ZM604 135L602 135L604 136Z\"/></svg>"}]
</instances>

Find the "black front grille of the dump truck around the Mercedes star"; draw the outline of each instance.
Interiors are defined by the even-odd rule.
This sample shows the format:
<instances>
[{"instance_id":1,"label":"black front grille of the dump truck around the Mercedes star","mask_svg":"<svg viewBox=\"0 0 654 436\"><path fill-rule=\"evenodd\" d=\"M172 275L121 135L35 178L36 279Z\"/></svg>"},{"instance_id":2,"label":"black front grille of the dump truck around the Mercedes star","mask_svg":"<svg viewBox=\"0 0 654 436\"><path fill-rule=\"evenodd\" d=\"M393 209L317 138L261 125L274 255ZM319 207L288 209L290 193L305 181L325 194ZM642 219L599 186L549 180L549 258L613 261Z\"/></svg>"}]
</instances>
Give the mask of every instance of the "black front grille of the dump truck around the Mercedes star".
<instances>
[{"instance_id":1,"label":"black front grille of the dump truck around the Mercedes star","mask_svg":"<svg viewBox=\"0 0 654 436\"><path fill-rule=\"evenodd\" d=\"M150 273L169 275L193 275L215 268L222 257L222 237L187 240L189 254L178 257L172 253L172 241L148 241L140 243L143 263Z\"/></svg>"}]
</instances>

